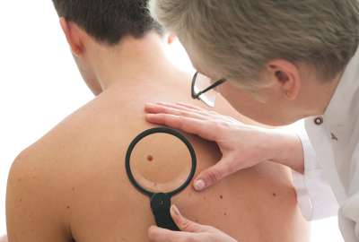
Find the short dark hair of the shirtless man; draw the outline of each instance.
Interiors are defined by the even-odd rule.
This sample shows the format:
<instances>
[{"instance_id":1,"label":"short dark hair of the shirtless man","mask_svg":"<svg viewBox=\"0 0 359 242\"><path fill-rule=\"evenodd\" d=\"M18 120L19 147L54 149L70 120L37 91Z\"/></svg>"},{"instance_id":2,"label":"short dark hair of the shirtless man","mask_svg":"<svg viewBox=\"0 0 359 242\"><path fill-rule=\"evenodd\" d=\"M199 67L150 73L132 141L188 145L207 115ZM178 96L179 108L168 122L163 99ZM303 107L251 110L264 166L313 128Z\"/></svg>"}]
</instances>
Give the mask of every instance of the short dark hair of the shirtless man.
<instances>
[{"instance_id":1,"label":"short dark hair of the shirtless man","mask_svg":"<svg viewBox=\"0 0 359 242\"><path fill-rule=\"evenodd\" d=\"M142 38L162 27L151 17L148 0L53 0L57 13L99 42L118 44L125 36Z\"/></svg>"}]
</instances>

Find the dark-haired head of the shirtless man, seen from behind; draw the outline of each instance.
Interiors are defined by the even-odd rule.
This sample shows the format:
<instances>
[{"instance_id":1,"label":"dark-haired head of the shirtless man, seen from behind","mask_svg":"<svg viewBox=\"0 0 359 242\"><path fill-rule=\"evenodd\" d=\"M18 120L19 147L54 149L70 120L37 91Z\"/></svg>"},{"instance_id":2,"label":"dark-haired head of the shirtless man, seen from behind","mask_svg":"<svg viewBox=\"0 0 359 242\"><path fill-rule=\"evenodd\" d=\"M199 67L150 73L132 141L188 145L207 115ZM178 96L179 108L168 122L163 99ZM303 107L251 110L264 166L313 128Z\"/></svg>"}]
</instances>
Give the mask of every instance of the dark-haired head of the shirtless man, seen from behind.
<instances>
[{"instance_id":1,"label":"dark-haired head of the shirtless man, seen from behind","mask_svg":"<svg viewBox=\"0 0 359 242\"><path fill-rule=\"evenodd\" d=\"M93 92L101 90L86 48L118 46L121 40L141 39L149 32L162 34L147 9L147 0L53 0L61 27L84 80Z\"/></svg>"}]
</instances>

